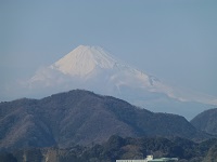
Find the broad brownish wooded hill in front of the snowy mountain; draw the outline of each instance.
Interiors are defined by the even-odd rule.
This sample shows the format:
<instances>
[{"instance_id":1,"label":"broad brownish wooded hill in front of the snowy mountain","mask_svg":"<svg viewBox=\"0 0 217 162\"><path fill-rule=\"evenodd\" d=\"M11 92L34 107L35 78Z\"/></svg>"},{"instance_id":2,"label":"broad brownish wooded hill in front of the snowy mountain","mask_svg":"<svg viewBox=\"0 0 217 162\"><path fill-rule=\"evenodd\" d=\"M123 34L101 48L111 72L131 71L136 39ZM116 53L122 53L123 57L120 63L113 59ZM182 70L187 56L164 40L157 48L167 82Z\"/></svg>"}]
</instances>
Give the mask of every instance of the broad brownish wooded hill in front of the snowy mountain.
<instances>
[{"instance_id":1,"label":"broad brownish wooded hill in front of the snowy mountain","mask_svg":"<svg viewBox=\"0 0 217 162\"><path fill-rule=\"evenodd\" d=\"M0 148L72 147L112 135L204 139L183 117L154 113L124 100L75 90L42 99L0 104Z\"/></svg>"}]
</instances>

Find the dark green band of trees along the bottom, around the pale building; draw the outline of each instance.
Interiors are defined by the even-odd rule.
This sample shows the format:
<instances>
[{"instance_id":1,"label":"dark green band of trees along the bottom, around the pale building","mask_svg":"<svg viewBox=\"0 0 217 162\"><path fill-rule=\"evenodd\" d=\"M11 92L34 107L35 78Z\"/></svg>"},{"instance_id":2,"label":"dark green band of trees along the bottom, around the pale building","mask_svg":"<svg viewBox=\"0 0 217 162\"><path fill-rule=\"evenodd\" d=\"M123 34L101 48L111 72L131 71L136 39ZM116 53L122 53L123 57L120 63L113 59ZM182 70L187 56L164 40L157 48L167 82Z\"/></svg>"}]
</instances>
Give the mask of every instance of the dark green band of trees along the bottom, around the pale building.
<instances>
[{"instance_id":1,"label":"dark green band of trees along the bottom, around the pale building","mask_svg":"<svg viewBox=\"0 0 217 162\"><path fill-rule=\"evenodd\" d=\"M216 162L217 139L193 143L183 138L123 138L111 136L107 141L91 147L74 146L18 149L0 152L1 162L115 162L117 159L176 157L180 162Z\"/></svg>"}]
</instances>

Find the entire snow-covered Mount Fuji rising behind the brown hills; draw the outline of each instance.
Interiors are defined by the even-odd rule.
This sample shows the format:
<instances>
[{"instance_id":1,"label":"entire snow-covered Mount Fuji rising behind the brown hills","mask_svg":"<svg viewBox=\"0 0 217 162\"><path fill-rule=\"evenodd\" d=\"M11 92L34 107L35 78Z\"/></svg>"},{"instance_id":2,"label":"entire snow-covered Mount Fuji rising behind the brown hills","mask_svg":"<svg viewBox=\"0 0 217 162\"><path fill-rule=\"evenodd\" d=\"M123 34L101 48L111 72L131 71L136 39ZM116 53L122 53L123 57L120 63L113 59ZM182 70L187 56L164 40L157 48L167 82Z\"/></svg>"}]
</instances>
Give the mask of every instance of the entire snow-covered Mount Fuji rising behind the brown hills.
<instances>
[{"instance_id":1,"label":"entire snow-covered Mount Fuji rising behind the brown hills","mask_svg":"<svg viewBox=\"0 0 217 162\"><path fill-rule=\"evenodd\" d=\"M116 59L100 46L76 48L54 64L38 70L24 86L30 96L85 89L152 111L178 113L187 119L217 105L215 97L169 86Z\"/></svg>"}]
</instances>

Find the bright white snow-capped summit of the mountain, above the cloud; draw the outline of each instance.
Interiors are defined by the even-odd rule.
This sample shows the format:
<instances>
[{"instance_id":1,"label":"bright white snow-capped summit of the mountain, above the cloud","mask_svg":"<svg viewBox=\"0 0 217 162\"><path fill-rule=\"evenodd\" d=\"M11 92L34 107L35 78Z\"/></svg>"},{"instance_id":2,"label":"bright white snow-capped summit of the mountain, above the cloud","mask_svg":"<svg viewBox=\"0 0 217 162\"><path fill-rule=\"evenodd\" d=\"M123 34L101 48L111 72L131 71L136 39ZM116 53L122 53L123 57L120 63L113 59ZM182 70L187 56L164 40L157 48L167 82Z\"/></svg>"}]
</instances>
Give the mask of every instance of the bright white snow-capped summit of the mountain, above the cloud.
<instances>
[{"instance_id":1,"label":"bright white snow-capped summit of the mountain, above the cloud","mask_svg":"<svg viewBox=\"0 0 217 162\"><path fill-rule=\"evenodd\" d=\"M58 69L64 75L87 76L95 67L112 69L116 60L100 46L79 45L63 58L51 65L52 69Z\"/></svg>"}]
</instances>

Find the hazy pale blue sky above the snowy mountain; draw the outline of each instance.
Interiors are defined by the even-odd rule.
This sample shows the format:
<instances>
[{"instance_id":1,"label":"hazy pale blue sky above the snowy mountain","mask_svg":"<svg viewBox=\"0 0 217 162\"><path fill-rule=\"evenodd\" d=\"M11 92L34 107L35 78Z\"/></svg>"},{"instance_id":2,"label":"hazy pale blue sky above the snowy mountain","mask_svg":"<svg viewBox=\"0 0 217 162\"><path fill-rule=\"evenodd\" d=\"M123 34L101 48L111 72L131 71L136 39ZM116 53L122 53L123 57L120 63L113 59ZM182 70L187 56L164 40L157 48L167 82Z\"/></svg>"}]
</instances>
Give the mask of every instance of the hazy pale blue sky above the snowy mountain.
<instances>
[{"instance_id":1,"label":"hazy pale blue sky above the snowy mountain","mask_svg":"<svg viewBox=\"0 0 217 162\"><path fill-rule=\"evenodd\" d=\"M216 0L1 0L0 90L80 44L217 96Z\"/></svg>"}]
</instances>

